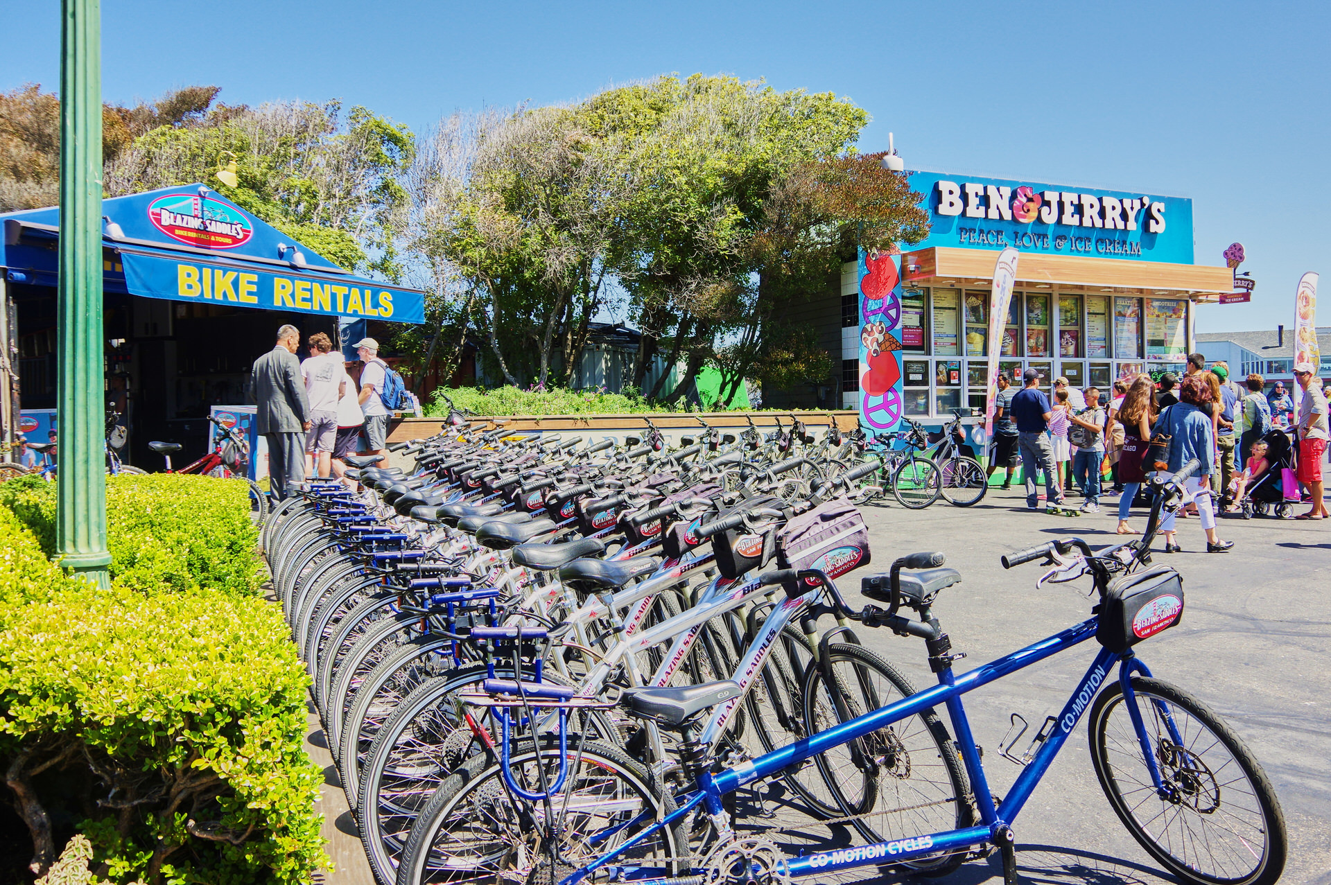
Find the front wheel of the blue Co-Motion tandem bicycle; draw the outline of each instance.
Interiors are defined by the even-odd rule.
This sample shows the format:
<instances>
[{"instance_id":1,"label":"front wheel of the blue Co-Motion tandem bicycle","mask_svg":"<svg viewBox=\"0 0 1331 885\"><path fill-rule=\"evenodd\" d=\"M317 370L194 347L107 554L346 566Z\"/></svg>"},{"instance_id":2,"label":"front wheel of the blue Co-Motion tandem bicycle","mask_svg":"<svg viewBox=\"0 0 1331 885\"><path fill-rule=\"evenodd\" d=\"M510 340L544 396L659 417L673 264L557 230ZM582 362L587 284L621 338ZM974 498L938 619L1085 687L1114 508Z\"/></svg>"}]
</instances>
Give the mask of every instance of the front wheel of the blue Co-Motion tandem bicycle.
<instances>
[{"instance_id":1,"label":"front wheel of the blue Co-Motion tandem bicycle","mask_svg":"<svg viewBox=\"0 0 1331 885\"><path fill-rule=\"evenodd\" d=\"M1115 681L1095 699L1090 757L1114 813L1151 857L1187 882L1264 885L1288 841L1280 802L1243 741L1181 688L1133 676L1137 708L1169 796L1162 797Z\"/></svg>"}]
</instances>

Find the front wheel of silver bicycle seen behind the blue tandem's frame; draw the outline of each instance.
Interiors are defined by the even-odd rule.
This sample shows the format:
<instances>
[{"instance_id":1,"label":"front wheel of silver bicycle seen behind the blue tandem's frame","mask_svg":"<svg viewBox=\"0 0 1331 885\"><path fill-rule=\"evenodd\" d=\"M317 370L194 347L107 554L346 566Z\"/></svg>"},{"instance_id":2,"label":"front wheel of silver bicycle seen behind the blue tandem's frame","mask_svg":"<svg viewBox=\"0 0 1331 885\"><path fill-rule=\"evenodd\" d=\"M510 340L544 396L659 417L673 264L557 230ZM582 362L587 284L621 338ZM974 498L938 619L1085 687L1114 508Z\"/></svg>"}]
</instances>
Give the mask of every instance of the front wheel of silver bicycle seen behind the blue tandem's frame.
<instances>
[{"instance_id":1,"label":"front wheel of silver bicycle seen behind the blue tandem's frame","mask_svg":"<svg viewBox=\"0 0 1331 885\"><path fill-rule=\"evenodd\" d=\"M833 643L827 659L804 673L804 720L817 733L913 693L914 687L869 649ZM813 759L840 813L856 814L855 828L870 841L973 822L965 771L932 708ZM942 874L964 858L965 852L937 854L908 866Z\"/></svg>"}]
</instances>

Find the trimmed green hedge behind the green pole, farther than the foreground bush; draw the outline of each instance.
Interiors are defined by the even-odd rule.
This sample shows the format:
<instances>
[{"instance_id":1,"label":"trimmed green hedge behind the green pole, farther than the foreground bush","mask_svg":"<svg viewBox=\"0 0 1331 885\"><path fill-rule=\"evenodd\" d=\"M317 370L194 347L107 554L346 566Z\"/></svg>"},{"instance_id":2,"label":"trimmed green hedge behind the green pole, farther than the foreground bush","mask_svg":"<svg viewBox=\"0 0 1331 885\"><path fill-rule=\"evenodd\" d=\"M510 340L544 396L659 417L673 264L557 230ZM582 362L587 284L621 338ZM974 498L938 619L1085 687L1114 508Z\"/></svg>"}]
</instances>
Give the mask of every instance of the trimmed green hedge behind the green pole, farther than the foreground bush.
<instances>
[{"instance_id":1,"label":"trimmed green hedge behind the green pole, farther than the foreground bush","mask_svg":"<svg viewBox=\"0 0 1331 885\"><path fill-rule=\"evenodd\" d=\"M40 476L0 483L0 503L56 554L56 484ZM258 528L242 479L181 474L106 476L110 576L142 592L210 587L254 595Z\"/></svg>"}]
</instances>

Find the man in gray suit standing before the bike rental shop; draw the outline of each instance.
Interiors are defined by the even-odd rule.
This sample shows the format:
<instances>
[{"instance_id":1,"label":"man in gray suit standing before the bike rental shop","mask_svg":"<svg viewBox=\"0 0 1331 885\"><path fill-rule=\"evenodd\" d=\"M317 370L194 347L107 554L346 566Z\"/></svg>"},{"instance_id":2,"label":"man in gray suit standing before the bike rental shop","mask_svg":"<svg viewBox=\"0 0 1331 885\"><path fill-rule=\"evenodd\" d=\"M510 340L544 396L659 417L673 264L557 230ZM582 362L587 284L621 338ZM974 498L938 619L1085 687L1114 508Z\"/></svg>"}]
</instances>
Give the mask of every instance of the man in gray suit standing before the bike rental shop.
<instances>
[{"instance_id":1,"label":"man in gray suit standing before the bike rental shop","mask_svg":"<svg viewBox=\"0 0 1331 885\"><path fill-rule=\"evenodd\" d=\"M282 500L305 482L305 431L310 429L310 401L305 395L295 349L301 330L282 326L277 346L254 361L250 375L258 403L258 433L268 438L268 483L273 500Z\"/></svg>"}]
</instances>

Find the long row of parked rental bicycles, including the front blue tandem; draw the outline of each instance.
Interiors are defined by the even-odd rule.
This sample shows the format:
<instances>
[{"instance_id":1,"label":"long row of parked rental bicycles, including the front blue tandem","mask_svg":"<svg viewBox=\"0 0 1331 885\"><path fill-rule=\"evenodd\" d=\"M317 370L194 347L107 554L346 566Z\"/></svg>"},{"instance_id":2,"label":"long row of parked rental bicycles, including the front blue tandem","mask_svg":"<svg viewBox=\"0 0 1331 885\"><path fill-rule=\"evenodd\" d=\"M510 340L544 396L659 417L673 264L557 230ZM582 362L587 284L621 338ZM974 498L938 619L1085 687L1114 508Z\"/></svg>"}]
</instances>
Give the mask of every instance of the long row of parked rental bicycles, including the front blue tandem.
<instances>
[{"instance_id":1,"label":"long row of parked rental bicycles, including the front blue tandem","mask_svg":"<svg viewBox=\"0 0 1331 885\"><path fill-rule=\"evenodd\" d=\"M361 491L311 483L276 507L274 592L379 882L937 874L996 848L1014 877L1010 822L1082 713L1106 795L1171 872L1279 877L1256 763L1131 649L1182 614L1177 574L1145 568L1177 486L1158 483L1141 540L1010 558L1091 576L1101 614L954 677L932 604L960 575L904 556L848 603L835 578L869 563L857 503L882 463L833 438L783 458L793 430L764 444L705 427L667 451L648 427L620 450L454 415L395 447L413 470L353 458ZM874 627L922 637L938 685L916 692L865 648L856 631ZM960 696L1091 636L1065 716L1024 756L1006 741L1026 771L990 798ZM819 826L837 836L792 848Z\"/></svg>"}]
</instances>

